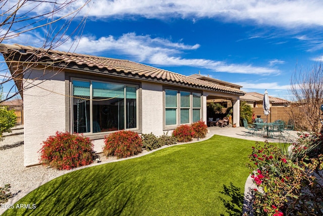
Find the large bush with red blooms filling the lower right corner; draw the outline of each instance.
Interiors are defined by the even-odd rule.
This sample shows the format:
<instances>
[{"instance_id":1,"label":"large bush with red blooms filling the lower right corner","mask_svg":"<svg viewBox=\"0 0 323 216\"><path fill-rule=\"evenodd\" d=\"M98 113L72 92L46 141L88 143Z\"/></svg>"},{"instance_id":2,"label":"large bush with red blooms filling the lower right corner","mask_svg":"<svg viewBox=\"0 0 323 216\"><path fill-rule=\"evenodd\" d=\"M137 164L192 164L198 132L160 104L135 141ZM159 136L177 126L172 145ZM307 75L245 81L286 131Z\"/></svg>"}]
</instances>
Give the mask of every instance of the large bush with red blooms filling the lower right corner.
<instances>
[{"instance_id":1,"label":"large bush with red blooms filling the lower right corner","mask_svg":"<svg viewBox=\"0 0 323 216\"><path fill-rule=\"evenodd\" d=\"M323 215L322 185L317 181L323 178L323 156L316 151L321 143L321 137L306 135L289 153L267 142L252 147L249 167L257 186L252 191L253 215Z\"/></svg>"}]
</instances>

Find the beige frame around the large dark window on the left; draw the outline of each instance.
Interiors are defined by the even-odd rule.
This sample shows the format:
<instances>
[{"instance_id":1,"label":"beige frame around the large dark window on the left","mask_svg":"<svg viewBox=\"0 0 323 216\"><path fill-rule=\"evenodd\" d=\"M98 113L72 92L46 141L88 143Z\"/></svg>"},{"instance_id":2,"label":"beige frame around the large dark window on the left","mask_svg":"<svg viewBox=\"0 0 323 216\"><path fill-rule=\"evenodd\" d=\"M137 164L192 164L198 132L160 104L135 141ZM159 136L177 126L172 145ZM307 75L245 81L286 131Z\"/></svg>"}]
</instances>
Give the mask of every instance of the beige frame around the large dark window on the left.
<instances>
[{"instance_id":1,"label":"beige frame around the large dark window on the left","mask_svg":"<svg viewBox=\"0 0 323 216\"><path fill-rule=\"evenodd\" d=\"M138 131L140 129L140 121L139 121L139 89L140 89L140 85L139 84L131 84L128 82L118 82L118 81L113 81L113 80L98 80L98 79L91 79L91 78L79 78L79 77L71 77L70 78L70 118L71 118L71 132L74 132L74 107L73 107L73 98L74 98L74 91L73 91L73 81L88 81L90 82L90 99L89 99L89 107L90 107L90 132L87 133L82 133L86 136L100 136L100 135L104 135L104 134L110 134L110 133L114 133L117 131L121 131L121 130L117 130L117 131L104 131L104 132L93 132L93 88L92 88L92 82L102 82L102 83L111 83L111 84L121 84L123 85L124 88L124 129L125 131ZM133 128L127 128L127 97L126 97L126 89L127 87L132 87L132 88L136 88L136 127Z\"/></svg>"}]
</instances>

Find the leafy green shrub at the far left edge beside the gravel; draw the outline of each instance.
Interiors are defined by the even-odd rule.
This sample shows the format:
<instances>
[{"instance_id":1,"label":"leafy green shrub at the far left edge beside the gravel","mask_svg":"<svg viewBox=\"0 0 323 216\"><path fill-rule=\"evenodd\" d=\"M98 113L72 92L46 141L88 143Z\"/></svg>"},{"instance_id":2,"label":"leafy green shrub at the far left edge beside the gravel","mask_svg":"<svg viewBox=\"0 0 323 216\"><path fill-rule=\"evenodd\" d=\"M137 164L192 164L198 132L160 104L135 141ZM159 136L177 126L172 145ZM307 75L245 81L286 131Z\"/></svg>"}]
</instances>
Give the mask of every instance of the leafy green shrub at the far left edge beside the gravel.
<instances>
[{"instance_id":1,"label":"leafy green shrub at the far left edge beside the gravel","mask_svg":"<svg viewBox=\"0 0 323 216\"><path fill-rule=\"evenodd\" d=\"M8 110L6 106L0 106L0 141L3 133L10 133L11 128L16 125L17 116L14 110Z\"/></svg>"}]
</instances>

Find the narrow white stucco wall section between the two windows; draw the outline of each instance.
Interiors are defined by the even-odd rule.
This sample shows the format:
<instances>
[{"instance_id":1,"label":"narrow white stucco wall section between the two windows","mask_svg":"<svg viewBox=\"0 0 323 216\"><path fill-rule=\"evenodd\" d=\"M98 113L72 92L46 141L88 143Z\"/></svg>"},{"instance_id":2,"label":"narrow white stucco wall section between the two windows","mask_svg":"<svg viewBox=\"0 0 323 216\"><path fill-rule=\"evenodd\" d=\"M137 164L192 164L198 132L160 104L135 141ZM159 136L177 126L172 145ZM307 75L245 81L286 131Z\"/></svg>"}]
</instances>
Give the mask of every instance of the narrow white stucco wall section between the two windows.
<instances>
[{"instance_id":1,"label":"narrow white stucco wall section between the two windows","mask_svg":"<svg viewBox=\"0 0 323 216\"><path fill-rule=\"evenodd\" d=\"M163 85L142 82L142 133L163 135Z\"/></svg>"}]
</instances>

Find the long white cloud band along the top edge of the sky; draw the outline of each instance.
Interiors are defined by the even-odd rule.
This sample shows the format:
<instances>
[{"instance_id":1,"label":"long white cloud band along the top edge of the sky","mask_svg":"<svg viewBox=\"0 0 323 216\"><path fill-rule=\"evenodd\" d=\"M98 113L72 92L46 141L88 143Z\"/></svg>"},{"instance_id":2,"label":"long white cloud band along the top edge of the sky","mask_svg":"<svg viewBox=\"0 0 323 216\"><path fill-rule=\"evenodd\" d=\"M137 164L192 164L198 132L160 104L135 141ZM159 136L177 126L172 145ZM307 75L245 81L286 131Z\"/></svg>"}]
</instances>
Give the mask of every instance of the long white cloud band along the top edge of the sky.
<instances>
[{"instance_id":1,"label":"long white cloud band along the top edge of the sky","mask_svg":"<svg viewBox=\"0 0 323 216\"><path fill-rule=\"evenodd\" d=\"M16 0L17 1L17 0ZM57 1L59 3L65 0ZM86 0L78 0L59 12L62 16L79 9ZM42 14L53 7L50 3L29 2L21 10L27 12L32 7L34 13ZM77 15L80 17L88 15L95 18L131 18L136 16L145 18L167 19L169 17L187 18L196 20L198 18L219 17L228 21L250 21L258 24L272 26L283 26L294 28L299 26L323 25L323 4L319 0L253 0L239 1L227 0L217 1L204 0L100 0L90 2Z\"/></svg>"}]
</instances>

